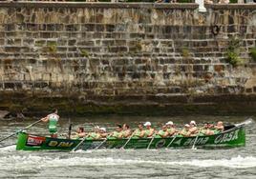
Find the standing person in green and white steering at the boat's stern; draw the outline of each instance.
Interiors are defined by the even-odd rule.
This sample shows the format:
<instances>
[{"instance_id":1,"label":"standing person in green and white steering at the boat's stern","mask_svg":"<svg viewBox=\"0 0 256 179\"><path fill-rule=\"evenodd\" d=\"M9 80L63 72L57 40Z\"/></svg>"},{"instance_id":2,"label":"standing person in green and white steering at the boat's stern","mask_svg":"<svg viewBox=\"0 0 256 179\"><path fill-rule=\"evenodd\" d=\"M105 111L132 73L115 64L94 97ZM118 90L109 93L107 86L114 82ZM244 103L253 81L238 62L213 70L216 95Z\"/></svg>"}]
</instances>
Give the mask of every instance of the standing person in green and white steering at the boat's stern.
<instances>
[{"instance_id":1,"label":"standing person in green and white steering at the boat's stern","mask_svg":"<svg viewBox=\"0 0 256 179\"><path fill-rule=\"evenodd\" d=\"M53 113L48 114L46 117L42 118L41 121L47 123L49 122L49 132L51 133L51 137L57 138L57 122L59 120L59 116L57 114L57 109L53 109Z\"/></svg>"}]
</instances>

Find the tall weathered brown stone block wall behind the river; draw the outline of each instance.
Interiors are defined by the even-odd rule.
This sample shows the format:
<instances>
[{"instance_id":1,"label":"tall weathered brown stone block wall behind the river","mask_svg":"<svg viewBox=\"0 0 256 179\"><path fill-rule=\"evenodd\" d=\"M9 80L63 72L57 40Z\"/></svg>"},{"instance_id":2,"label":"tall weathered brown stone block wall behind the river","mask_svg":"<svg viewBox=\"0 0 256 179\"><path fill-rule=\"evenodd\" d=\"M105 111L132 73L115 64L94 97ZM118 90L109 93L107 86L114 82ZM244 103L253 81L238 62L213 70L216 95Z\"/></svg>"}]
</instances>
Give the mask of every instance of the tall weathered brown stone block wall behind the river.
<instances>
[{"instance_id":1,"label":"tall weathered brown stone block wall behind the river","mask_svg":"<svg viewBox=\"0 0 256 179\"><path fill-rule=\"evenodd\" d=\"M0 109L253 113L256 5L206 8L1 2ZM245 66L225 62L232 38Z\"/></svg>"}]
</instances>

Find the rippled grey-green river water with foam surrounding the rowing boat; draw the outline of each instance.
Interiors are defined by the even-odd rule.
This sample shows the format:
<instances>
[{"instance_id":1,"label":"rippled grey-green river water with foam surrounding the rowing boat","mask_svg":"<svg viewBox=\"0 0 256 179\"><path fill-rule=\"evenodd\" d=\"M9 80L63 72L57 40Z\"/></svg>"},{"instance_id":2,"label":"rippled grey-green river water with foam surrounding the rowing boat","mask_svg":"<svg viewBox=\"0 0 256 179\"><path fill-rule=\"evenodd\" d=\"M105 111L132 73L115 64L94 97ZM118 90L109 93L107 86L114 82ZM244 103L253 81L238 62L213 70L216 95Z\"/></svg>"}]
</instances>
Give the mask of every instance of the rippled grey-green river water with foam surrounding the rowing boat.
<instances>
[{"instance_id":1,"label":"rippled grey-green river water with foam surrounding the rowing boat","mask_svg":"<svg viewBox=\"0 0 256 179\"><path fill-rule=\"evenodd\" d=\"M135 126L151 121L155 126L173 120L181 126L190 120L198 123L240 123L244 116L120 117L99 116L72 119L75 128L94 125L113 129L118 122ZM90 122L93 122L91 124ZM0 122L0 138L32 121ZM60 122L67 132L69 120ZM46 124L29 130L47 134ZM16 151L14 146L0 148L1 178L256 178L256 125L246 128L246 147L237 149L101 149L76 152ZM2 145L15 142L11 138Z\"/></svg>"}]
</instances>

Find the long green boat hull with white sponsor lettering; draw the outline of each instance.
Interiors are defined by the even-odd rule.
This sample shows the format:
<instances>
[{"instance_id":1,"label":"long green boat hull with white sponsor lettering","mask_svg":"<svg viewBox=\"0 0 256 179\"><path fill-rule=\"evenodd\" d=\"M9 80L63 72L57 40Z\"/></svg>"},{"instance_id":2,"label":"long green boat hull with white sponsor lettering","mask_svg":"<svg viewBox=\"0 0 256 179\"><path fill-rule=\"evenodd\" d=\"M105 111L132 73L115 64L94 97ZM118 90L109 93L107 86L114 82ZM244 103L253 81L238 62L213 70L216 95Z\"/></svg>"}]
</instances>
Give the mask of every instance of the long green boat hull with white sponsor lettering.
<instances>
[{"instance_id":1,"label":"long green boat hull with white sponsor lettering","mask_svg":"<svg viewBox=\"0 0 256 179\"><path fill-rule=\"evenodd\" d=\"M85 140L77 149L120 149L128 139ZM104 141L104 142L103 142ZM25 132L18 134L17 150L72 150L81 140L62 139L32 135ZM161 148L232 148L245 146L245 126L234 127L222 133L209 136L140 138L131 139L125 149L161 149Z\"/></svg>"}]
</instances>

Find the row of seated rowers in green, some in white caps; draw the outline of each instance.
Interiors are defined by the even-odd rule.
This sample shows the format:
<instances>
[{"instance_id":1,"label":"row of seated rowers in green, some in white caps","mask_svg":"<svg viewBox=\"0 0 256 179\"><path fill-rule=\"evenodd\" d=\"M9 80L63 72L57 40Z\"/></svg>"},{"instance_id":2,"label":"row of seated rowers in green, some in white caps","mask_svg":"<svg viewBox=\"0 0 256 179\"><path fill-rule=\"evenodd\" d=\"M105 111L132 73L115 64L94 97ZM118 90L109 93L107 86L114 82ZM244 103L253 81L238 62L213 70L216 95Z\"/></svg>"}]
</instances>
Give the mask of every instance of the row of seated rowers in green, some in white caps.
<instances>
[{"instance_id":1,"label":"row of seated rowers in green, some in white caps","mask_svg":"<svg viewBox=\"0 0 256 179\"><path fill-rule=\"evenodd\" d=\"M145 127L145 128L144 128ZM76 129L76 132L72 135L72 138L86 138L88 140L94 139L121 139L121 138L165 138L171 136L197 136L197 135L213 135L220 133L224 130L224 124L219 121L216 126L206 123L203 128L198 128L195 121L191 121L189 124L184 125L184 128L178 130L172 121L167 122L161 127L160 130L152 128L150 122L139 124L138 129L132 131L127 124L123 126L117 125L116 130L107 132L105 128L96 127L93 132L86 132L83 127Z\"/></svg>"}]
</instances>

